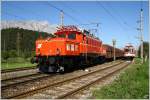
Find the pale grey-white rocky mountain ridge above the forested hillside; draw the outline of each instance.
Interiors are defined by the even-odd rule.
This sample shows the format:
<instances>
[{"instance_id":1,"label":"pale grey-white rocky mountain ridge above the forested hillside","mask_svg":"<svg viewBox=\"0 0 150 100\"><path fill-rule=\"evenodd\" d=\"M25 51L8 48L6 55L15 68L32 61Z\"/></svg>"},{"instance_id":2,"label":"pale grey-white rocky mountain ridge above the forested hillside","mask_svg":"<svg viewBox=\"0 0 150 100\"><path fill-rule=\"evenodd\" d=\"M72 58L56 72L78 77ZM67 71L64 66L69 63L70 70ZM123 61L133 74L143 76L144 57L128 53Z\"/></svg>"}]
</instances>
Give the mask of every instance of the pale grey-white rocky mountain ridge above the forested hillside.
<instances>
[{"instance_id":1,"label":"pale grey-white rocky mountain ridge above the forested hillside","mask_svg":"<svg viewBox=\"0 0 150 100\"><path fill-rule=\"evenodd\" d=\"M28 30L34 30L34 31L40 31L40 32L48 32L48 33L54 33L56 32L56 29L58 25L56 24L50 24L48 21L1 21L1 28L23 28Z\"/></svg>"}]
</instances>

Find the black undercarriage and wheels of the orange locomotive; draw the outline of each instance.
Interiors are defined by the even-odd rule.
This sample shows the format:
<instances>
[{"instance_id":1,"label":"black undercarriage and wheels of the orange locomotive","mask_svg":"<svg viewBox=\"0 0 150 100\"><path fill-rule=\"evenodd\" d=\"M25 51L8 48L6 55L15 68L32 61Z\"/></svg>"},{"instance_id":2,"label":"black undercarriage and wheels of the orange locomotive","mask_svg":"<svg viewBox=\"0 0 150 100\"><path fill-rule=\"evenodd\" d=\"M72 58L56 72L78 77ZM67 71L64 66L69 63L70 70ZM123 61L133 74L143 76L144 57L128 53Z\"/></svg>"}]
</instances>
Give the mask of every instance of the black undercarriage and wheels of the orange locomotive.
<instances>
[{"instance_id":1,"label":"black undercarriage and wheels of the orange locomotive","mask_svg":"<svg viewBox=\"0 0 150 100\"><path fill-rule=\"evenodd\" d=\"M64 73L79 68L84 69L104 61L105 57L83 54L80 56L38 56L31 60L32 63L38 63L39 70L44 73Z\"/></svg>"}]
</instances>

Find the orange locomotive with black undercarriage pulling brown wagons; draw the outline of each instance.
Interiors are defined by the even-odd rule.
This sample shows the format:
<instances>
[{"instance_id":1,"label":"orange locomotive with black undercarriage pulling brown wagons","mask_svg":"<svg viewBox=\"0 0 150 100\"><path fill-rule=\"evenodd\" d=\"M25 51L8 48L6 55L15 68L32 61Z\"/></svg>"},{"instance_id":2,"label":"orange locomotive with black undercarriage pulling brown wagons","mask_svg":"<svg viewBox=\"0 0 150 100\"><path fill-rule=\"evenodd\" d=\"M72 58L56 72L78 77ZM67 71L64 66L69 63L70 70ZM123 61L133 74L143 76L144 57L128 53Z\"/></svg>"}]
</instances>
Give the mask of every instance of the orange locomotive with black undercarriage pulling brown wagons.
<instances>
[{"instance_id":1,"label":"orange locomotive with black undercarriage pulling brown wagons","mask_svg":"<svg viewBox=\"0 0 150 100\"><path fill-rule=\"evenodd\" d=\"M31 59L42 72L66 72L73 67L105 62L113 58L113 47L87 30L76 26L62 26L54 33L54 38L36 40L36 56ZM124 51L115 48L116 59L124 56Z\"/></svg>"}]
</instances>

